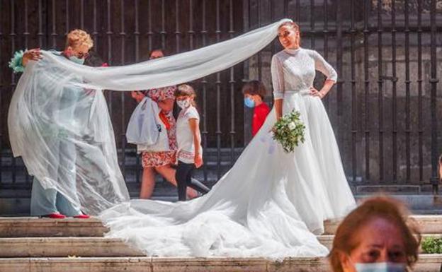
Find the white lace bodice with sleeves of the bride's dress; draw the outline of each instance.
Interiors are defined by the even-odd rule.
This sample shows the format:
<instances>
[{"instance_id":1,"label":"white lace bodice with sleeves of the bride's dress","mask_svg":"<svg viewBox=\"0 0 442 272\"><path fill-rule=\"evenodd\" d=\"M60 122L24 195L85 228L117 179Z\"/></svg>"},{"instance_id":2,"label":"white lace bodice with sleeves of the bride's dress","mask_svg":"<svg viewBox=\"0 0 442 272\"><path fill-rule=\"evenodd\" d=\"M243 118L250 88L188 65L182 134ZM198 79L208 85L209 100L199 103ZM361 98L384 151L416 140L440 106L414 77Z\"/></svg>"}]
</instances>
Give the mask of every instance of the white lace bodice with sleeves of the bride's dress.
<instances>
[{"instance_id":1,"label":"white lace bodice with sleeves of the bride's dress","mask_svg":"<svg viewBox=\"0 0 442 272\"><path fill-rule=\"evenodd\" d=\"M271 75L274 99L282 99L285 90L305 90L312 87L315 70L324 73L332 81L336 82L338 79L333 67L314 50L284 49L273 55Z\"/></svg>"}]
</instances>

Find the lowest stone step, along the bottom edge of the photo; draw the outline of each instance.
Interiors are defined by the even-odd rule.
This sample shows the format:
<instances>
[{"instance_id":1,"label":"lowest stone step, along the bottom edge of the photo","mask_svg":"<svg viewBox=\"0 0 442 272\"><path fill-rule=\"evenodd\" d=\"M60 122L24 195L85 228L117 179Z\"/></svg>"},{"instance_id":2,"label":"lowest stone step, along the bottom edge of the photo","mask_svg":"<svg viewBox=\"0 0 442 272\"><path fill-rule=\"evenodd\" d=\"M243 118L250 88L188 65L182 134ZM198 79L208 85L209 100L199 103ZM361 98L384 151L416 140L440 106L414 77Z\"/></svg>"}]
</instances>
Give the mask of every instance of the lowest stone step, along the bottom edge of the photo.
<instances>
[{"instance_id":1,"label":"lowest stone step, along the bottom edge of the photo","mask_svg":"<svg viewBox=\"0 0 442 272\"><path fill-rule=\"evenodd\" d=\"M414 272L439 272L442 254L421 254ZM0 259L1 272L328 272L325 258L13 258Z\"/></svg>"}]
</instances>

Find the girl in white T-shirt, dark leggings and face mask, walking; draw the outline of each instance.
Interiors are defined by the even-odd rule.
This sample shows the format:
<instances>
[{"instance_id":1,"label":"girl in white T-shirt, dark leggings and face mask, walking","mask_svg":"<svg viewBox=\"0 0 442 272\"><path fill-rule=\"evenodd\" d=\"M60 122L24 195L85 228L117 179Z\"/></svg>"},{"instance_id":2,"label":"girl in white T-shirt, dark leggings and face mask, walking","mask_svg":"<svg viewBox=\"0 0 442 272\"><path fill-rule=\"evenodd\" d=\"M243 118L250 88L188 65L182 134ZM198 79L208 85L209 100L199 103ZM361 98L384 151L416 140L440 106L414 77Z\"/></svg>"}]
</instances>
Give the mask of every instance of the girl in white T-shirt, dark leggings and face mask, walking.
<instances>
[{"instance_id":1,"label":"girl in white T-shirt, dark leggings and face mask, walking","mask_svg":"<svg viewBox=\"0 0 442 272\"><path fill-rule=\"evenodd\" d=\"M196 110L196 93L190 85L179 85L175 92L176 104L181 108L176 119L176 141L178 143L178 167L176 183L179 201L186 200L186 189L191 187L200 193L207 193L208 187L192 179L195 168L203 165L203 148L201 147L200 115Z\"/></svg>"}]
</instances>

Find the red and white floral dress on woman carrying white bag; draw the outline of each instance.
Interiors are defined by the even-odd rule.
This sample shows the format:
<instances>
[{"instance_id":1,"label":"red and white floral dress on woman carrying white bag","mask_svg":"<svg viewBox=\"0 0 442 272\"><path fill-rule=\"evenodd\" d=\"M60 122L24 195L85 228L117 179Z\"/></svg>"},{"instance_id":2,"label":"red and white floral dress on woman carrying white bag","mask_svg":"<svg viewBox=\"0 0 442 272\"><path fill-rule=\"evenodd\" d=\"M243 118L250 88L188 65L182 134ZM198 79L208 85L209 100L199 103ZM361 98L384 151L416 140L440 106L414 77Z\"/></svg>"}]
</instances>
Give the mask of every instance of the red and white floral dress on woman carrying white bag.
<instances>
[{"instance_id":1,"label":"red and white floral dress on woman carrying white bag","mask_svg":"<svg viewBox=\"0 0 442 272\"><path fill-rule=\"evenodd\" d=\"M159 102L166 99L175 100L175 90L176 86L169 86L146 90L144 93L147 95L147 97L150 97L155 102ZM176 121L172 111L164 113L170 124L170 129L167 131L170 151L143 152L142 167L159 167L176 163Z\"/></svg>"}]
</instances>

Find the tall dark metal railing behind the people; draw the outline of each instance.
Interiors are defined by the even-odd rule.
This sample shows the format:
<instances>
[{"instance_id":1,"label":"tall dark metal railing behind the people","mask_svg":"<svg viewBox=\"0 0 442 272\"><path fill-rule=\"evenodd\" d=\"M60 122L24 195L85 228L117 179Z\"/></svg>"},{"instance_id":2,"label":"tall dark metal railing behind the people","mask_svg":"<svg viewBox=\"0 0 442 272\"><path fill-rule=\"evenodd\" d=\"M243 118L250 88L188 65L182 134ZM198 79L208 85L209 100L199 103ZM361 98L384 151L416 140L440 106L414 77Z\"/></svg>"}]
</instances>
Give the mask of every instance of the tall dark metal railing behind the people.
<instances>
[{"instance_id":1,"label":"tall dark metal railing behind the people","mask_svg":"<svg viewBox=\"0 0 442 272\"><path fill-rule=\"evenodd\" d=\"M73 28L94 38L94 50L110 65L146 59L163 47L169 54L226 40L288 17L300 23L302 46L318 50L338 71L324 98L353 184L436 182L441 138L437 50L441 48L441 0L0 0L0 188L30 179L11 158L6 114L18 76L7 68L17 49L58 48ZM226 71L193 82L198 90L203 147L210 163L205 180L219 178L249 141L250 117L239 91L259 78L271 90L269 61L277 40ZM318 76L317 85L324 79ZM140 160L126 143L135 102L106 91L120 167L140 178ZM271 96L268 99L271 102ZM227 155L226 155L227 154ZM207 161L207 160L206 160Z\"/></svg>"}]
</instances>

